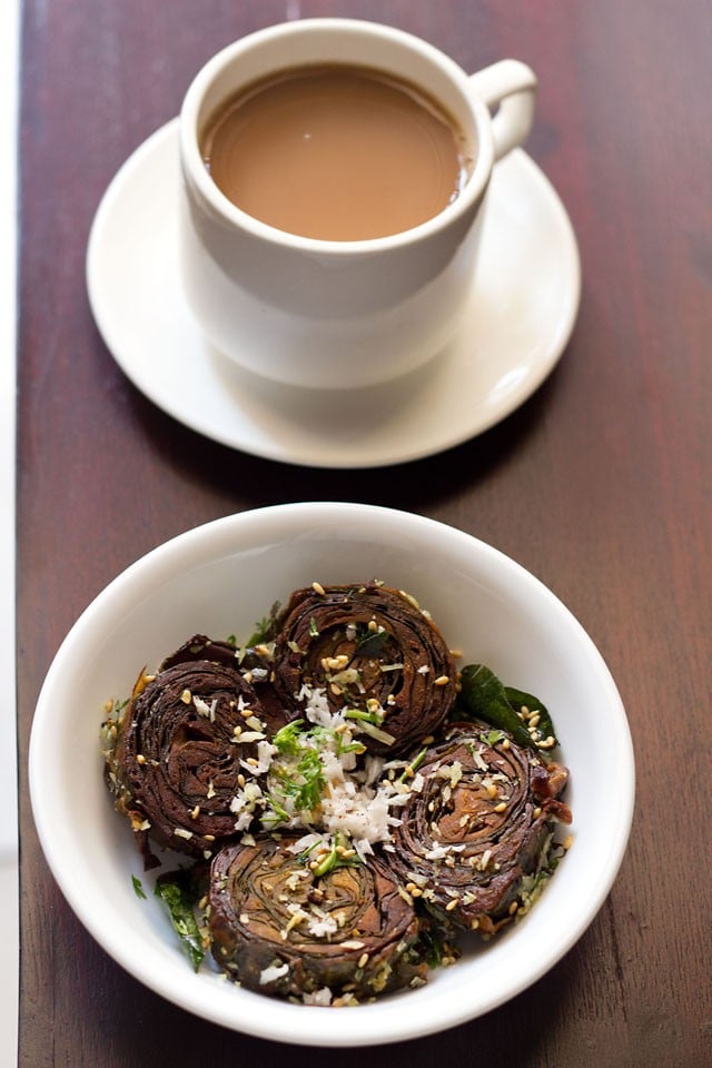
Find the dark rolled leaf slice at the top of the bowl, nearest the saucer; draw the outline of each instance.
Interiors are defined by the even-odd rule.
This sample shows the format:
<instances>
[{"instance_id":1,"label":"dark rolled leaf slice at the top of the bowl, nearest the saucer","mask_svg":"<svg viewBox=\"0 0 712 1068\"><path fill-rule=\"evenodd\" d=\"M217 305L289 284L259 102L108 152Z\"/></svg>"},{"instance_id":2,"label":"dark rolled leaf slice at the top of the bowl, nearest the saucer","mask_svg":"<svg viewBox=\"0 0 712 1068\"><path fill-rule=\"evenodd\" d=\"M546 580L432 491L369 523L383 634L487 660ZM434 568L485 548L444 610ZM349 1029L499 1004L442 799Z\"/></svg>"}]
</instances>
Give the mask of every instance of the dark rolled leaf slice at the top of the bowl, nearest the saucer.
<instances>
[{"instance_id":1,"label":"dark rolled leaf slice at the top of the bowl, nearest the saucer","mask_svg":"<svg viewBox=\"0 0 712 1068\"><path fill-rule=\"evenodd\" d=\"M299 713L303 686L357 725L370 753L397 755L433 733L456 695L453 657L408 594L377 582L291 594L277 621L275 688Z\"/></svg>"}]
</instances>

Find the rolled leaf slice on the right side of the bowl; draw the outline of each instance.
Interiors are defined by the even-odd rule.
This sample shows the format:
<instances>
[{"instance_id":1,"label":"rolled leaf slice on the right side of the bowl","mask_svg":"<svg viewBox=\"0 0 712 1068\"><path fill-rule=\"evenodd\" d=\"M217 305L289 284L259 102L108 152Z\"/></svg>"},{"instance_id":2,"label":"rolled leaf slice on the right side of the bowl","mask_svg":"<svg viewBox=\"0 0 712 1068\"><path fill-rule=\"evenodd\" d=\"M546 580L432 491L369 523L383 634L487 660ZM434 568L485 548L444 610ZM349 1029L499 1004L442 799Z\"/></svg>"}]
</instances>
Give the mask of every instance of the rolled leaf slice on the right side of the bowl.
<instances>
[{"instance_id":1,"label":"rolled leaf slice on the right side of the bowl","mask_svg":"<svg viewBox=\"0 0 712 1068\"><path fill-rule=\"evenodd\" d=\"M551 873L568 772L486 724L454 723L421 755L393 828L402 887L459 928L492 934Z\"/></svg>"}]
</instances>

